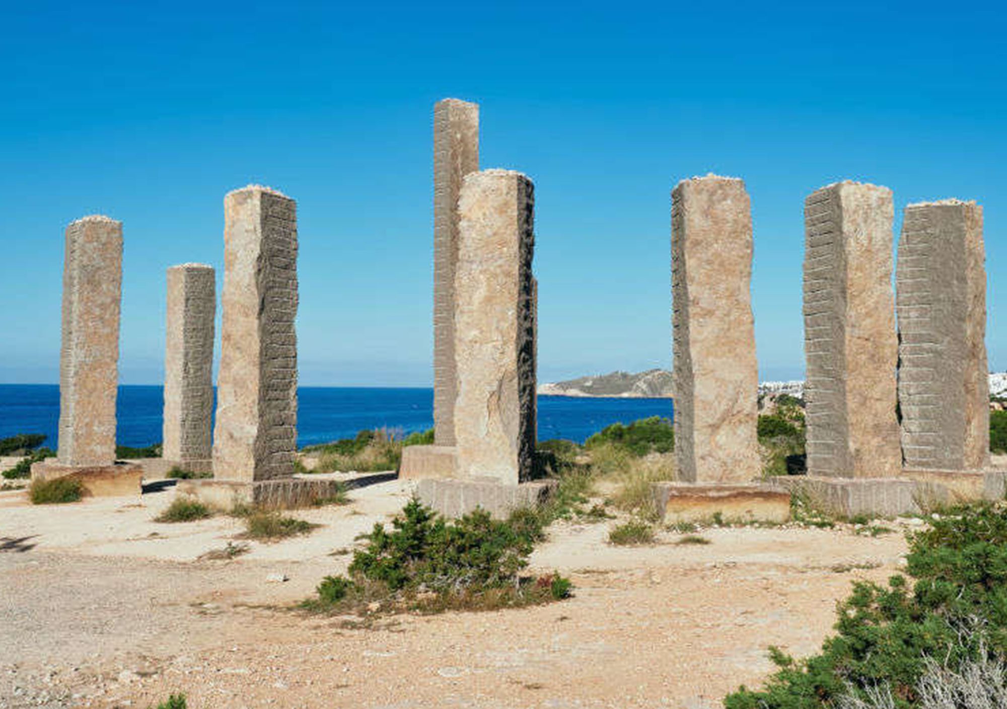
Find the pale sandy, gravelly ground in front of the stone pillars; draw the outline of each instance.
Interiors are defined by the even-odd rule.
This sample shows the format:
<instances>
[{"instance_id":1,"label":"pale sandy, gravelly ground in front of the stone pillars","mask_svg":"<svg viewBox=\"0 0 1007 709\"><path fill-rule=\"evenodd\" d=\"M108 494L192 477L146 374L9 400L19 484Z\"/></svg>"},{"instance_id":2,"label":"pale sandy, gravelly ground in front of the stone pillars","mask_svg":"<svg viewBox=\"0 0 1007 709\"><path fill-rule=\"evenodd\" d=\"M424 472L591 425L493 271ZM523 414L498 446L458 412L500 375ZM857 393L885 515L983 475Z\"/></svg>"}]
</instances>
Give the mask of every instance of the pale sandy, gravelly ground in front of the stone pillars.
<instances>
[{"instance_id":1,"label":"pale sandy, gravelly ground in front of the stone pillars","mask_svg":"<svg viewBox=\"0 0 1007 709\"><path fill-rule=\"evenodd\" d=\"M357 628L291 609L410 491L391 480L299 511L322 527L230 561L199 557L240 521L152 521L170 487L61 507L0 492L0 708L147 707L179 691L192 709L716 707L771 671L770 645L815 652L851 581L886 578L905 552L900 529L710 529L706 546L665 532L619 548L614 521L560 523L533 567L574 581L562 602Z\"/></svg>"}]
</instances>

